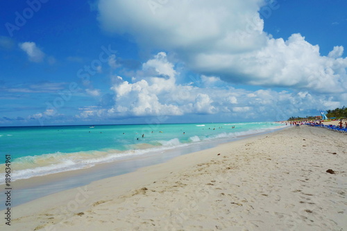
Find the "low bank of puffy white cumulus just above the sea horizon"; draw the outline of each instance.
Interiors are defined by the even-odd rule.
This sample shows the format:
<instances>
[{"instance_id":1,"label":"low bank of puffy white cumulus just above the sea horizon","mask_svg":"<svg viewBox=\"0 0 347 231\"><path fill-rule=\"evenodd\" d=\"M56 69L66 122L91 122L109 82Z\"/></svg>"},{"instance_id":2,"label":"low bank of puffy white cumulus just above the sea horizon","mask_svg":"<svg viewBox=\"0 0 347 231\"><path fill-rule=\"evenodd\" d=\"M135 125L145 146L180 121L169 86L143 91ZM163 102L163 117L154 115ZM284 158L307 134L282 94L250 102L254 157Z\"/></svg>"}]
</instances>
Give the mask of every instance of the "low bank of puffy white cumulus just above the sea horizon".
<instances>
[{"instance_id":1,"label":"low bank of puffy white cumulus just above the sea horizon","mask_svg":"<svg viewBox=\"0 0 347 231\"><path fill-rule=\"evenodd\" d=\"M338 97L331 94L317 96L307 91L276 92L271 89L251 91L236 89L219 78L201 76L201 82L224 83L224 87L211 85L184 85L176 83L178 71L167 60L166 53L160 52L144 62L133 82L114 76L111 90L112 104L84 108L78 118L129 117L179 117L189 114L205 114L232 119L285 120L293 115L317 107L334 108L341 106ZM143 76L144 69L153 68L156 76ZM153 74L153 73L152 73ZM166 76L163 78L162 76ZM82 109L81 109L82 110ZM317 111L318 112L318 111Z\"/></svg>"}]
</instances>

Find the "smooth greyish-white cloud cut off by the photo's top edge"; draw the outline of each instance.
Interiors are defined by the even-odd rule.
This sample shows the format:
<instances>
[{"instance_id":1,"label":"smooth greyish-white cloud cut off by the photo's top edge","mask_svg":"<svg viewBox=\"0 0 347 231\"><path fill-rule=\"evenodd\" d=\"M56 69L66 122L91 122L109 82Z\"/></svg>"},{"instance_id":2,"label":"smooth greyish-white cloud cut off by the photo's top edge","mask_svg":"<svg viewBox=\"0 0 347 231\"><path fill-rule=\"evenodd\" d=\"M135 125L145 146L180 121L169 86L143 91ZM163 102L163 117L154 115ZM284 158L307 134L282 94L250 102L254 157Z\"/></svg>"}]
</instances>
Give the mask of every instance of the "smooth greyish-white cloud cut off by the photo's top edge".
<instances>
[{"instance_id":1,"label":"smooth greyish-white cloud cut off by the photo's top edge","mask_svg":"<svg viewBox=\"0 0 347 231\"><path fill-rule=\"evenodd\" d=\"M168 1L153 12L147 0L103 0L99 1L99 21L107 31L135 35L142 45L192 50L210 43L207 47L212 51L221 49L237 30L246 28L246 20L253 20L259 3L258 0L177 0ZM255 31L262 32L260 17L255 22ZM239 50L239 46L228 46L228 49Z\"/></svg>"}]
</instances>

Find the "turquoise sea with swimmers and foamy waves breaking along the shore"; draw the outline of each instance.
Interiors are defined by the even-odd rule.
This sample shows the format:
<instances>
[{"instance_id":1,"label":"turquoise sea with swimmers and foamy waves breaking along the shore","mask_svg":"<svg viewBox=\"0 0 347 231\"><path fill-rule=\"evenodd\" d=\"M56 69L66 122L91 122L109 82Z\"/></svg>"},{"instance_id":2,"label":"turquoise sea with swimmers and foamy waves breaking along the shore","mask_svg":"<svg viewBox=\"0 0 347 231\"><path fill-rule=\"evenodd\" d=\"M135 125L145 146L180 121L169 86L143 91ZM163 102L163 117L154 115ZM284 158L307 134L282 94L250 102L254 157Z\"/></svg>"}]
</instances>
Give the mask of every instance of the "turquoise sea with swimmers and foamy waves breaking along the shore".
<instances>
[{"instance_id":1,"label":"turquoise sea with swimmers and foamy waves breaking along the shore","mask_svg":"<svg viewBox=\"0 0 347 231\"><path fill-rule=\"evenodd\" d=\"M235 126L235 128L232 128ZM0 173L11 155L12 179L87 168L153 152L273 130L279 123L181 123L153 125L0 128ZM144 137L142 137L144 135Z\"/></svg>"}]
</instances>

